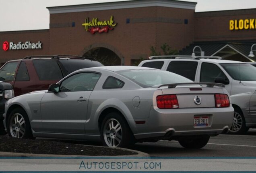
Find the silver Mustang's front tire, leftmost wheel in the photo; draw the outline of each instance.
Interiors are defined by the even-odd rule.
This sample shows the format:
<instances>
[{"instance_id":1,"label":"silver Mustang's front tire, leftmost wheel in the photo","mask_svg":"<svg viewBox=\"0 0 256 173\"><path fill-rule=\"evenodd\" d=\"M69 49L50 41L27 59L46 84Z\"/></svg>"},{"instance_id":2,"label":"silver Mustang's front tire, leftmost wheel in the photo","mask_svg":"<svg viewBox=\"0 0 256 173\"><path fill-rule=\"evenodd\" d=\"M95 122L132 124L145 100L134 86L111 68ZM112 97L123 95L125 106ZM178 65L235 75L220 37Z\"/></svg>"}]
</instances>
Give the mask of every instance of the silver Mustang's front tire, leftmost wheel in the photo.
<instances>
[{"instance_id":1,"label":"silver Mustang's front tire, leftmost wheel in the photo","mask_svg":"<svg viewBox=\"0 0 256 173\"><path fill-rule=\"evenodd\" d=\"M18 121L17 119L15 120L17 117ZM12 127L12 129L10 127ZM23 109L16 108L11 111L10 115L8 116L7 132L10 137L34 139L29 123L29 118Z\"/></svg>"}]
</instances>

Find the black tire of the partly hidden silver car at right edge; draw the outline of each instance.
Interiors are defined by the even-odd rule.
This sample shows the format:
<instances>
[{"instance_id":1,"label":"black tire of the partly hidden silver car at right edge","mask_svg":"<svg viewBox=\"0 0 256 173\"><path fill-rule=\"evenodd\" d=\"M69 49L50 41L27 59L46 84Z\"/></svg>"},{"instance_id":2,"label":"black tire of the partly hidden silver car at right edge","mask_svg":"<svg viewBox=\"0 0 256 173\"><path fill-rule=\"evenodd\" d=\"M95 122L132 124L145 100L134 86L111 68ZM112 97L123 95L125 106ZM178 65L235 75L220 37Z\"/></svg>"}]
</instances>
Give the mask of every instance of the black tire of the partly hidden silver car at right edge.
<instances>
[{"instance_id":1,"label":"black tire of the partly hidden silver car at right edge","mask_svg":"<svg viewBox=\"0 0 256 173\"><path fill-rule=\"evenodd\" d=\"M244 135L249 128L246 127L246 121L244 119L244 114L238 107L234 107L234 117L233 123L230 127L229 134L232 135Z\"/></svg>"}]
</instances>

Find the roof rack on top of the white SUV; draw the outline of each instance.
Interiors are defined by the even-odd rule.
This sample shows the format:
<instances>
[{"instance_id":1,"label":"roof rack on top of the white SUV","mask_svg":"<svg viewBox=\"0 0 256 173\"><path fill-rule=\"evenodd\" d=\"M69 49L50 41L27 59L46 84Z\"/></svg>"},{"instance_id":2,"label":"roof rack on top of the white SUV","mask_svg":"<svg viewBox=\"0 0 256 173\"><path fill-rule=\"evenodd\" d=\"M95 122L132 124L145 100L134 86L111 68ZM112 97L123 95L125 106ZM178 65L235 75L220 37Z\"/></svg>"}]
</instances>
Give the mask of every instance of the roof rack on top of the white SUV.
<instances>
[{"instance_id":1,"label":"roof rack on top of the white SUV","mask_svg":"<svg viewBox=\"0 0 256 173\"><path fill-rule=\"evenodd\" d=\"M222 59L220 56L161 55L150 56L149 59Z\"/></svg>"}]
</instances>

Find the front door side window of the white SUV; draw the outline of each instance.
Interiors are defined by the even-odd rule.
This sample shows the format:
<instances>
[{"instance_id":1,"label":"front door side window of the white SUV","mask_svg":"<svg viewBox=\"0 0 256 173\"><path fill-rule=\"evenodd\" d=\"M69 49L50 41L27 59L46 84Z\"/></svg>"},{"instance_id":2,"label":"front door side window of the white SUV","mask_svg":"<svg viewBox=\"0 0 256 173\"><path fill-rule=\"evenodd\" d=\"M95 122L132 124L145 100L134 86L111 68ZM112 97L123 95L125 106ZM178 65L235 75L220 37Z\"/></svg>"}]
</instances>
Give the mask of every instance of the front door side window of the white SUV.
<instances>
[{"instance_id":1,"label":"front door side window of the white SUV","mask_svg":"<svg viewBox=\"0 0 256 173\"><path fill-rule=\"evenodd\" d=\"M215 82L216 77L227 78L217 65L203 62L200 72L200 82Z\"/></svg>"}]
</instances>

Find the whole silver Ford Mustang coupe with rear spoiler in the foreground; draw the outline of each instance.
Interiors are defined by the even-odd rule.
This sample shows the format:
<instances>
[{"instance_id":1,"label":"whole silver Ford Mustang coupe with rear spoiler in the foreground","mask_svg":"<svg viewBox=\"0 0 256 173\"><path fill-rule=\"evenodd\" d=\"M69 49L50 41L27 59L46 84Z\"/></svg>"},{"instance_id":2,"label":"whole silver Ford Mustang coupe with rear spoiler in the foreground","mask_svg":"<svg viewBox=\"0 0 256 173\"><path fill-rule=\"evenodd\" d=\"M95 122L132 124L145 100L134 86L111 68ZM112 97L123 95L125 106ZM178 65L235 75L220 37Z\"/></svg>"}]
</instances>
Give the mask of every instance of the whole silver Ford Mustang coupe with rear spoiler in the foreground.
<instances>
[{"instance_id":1,"label":"whole silver Ford Mustang coupe with rear spoiler in the foreground","mask_svg":"<svg viewBox=\"0 0 256 173\"><path fill-rule=\"evenodd\" d=\"M146 67L86 68L48 91L10 99L4 124L17 138L101 139L109 147L163 139L201 148L233 120L227 91L215 85L223 84L202 87Z\"/></svg>"}]
</instances>

